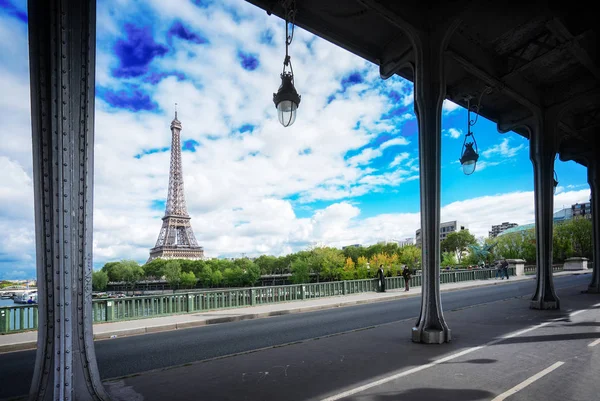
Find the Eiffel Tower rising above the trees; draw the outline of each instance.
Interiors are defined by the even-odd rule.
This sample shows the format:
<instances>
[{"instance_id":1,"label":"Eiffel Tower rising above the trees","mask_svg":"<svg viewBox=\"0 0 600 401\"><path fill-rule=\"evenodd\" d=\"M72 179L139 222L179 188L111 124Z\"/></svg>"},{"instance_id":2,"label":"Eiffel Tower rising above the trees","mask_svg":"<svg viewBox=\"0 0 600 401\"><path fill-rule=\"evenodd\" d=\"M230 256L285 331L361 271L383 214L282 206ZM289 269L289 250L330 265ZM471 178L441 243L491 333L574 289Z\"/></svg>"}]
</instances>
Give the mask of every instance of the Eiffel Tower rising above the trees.
<instances>
[{"instance_id":1,"label":"Eiffel Tower rising above the trees","mask_svg":"<svg viewBox=\"0 0 600 401\"><path fill-rule=\"evenodd\" d=\"M183 173L181 170L181 122L171 122L171 170L169 174L169 195L167 208L162 218L163 224L154 248L150 249L153 259L203 259L204 249L198 245L187 212L183 193Z\"/></svg>"}]
</instances>

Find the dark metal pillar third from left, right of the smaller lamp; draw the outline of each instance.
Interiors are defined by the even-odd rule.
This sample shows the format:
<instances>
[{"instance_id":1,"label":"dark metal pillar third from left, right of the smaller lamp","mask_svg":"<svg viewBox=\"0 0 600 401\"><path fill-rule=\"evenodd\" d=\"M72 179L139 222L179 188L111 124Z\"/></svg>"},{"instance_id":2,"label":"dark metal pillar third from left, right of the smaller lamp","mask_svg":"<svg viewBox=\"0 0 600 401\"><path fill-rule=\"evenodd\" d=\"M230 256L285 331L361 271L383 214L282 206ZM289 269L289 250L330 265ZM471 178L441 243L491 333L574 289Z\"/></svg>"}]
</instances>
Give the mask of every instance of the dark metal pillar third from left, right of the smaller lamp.
<instances>
[{"instance_id":1,"label":"dark metal pillar third from left, right of the smaller lamp","mask_svg":"<svg viewBox=\"0 0 600 401\"><path fill-rule=\"evenodd\" d=\"M552 280L552 226L554 207L554 158L556 156L556 119L546 118L535 124L529 140L533 163L535 197L536 290L532 309L559 309L560 300Z\"/></svg>"}]
</instances>

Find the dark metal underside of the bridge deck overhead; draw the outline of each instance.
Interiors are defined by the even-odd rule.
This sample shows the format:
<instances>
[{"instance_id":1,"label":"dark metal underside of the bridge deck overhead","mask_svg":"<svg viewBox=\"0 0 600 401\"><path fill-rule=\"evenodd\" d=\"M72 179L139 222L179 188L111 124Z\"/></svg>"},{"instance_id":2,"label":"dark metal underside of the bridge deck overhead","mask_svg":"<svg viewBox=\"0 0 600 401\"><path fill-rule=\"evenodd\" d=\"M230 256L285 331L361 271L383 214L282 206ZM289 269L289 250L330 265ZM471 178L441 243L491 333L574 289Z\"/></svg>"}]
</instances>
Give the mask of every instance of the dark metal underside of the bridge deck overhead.
<instances>
[{"instance_id":1,"label":"dark metal underside of the bridge deck overhead","mask_svg":"<svg viewBox=\"0 0 600 401\"><path fill-rule=\"evenodd\" d=\"M281 1L247 1L284 15ZM556 3L296 0L295 23L377 64L384 79L414 82L407 32L457 18L445 53L447 98L466 107L468 96L491 88L480 114L525 137L532 119L557 113L561 159L587 166L600 131L600 18L585 3Z\"/></svg>"}]
</instances>

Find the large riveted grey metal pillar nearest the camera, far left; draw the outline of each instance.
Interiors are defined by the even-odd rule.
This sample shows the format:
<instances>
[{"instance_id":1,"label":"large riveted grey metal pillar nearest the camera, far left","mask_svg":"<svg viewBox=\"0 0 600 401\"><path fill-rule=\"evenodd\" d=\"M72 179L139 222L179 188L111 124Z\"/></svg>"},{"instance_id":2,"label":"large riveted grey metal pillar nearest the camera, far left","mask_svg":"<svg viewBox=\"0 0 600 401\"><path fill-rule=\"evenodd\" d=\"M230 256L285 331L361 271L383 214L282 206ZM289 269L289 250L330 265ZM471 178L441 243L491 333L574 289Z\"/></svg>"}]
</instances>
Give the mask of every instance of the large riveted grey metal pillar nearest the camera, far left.
<instances>
[{"instance_id":1,"label":"large riveted grey metal pillar nearest the camera, far left","mask_svg":"<svg viewBox=\"0 0 600 401\"><path fill-rule=\"evenodd\" d=\"M39 329L31 400L108 400L92 336L95 0L29 0Z\"/></svg>"}]
</instances>

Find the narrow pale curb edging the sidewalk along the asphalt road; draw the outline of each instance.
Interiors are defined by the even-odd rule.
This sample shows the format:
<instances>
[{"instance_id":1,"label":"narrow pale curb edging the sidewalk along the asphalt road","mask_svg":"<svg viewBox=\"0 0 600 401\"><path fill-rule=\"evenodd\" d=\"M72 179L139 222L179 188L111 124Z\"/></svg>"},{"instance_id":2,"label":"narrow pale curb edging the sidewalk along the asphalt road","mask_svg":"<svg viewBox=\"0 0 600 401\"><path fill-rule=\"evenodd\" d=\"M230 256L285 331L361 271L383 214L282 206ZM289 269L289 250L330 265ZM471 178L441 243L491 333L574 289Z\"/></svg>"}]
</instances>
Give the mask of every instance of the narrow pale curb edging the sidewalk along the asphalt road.
<instances>
[{"instance_id":1,"label":"narrow pale curb edging the sidewalk along the asphalt road","mask_svg":"<svg viewBox=\"0 0 600 401\"><path fill-rule=\"evenodd\" d=\"M573 271L570 274L562 274L561 276L576 276L576 275L582 275L582 274L590 274L590 271L586 271L586 272ZM453 292L453 291L460 291L460 290L471 289L471 288L490 287L493 285L505 285L505 284L514 283L515 281L519 282L519 281L527 281L527 280L533 280L533 279L535 279L535 275L525 276L524 279L519 279L519 280L513 280L513 281L501 280L501 281L494 281L492 283L481 283L481 284L468 286L468 287L462 287L462 288L457 287L457 288L444 289L444 288L441 288L441 286L440 286L440 292ZM319 310L341 308L344 306L354 306L354 305L363 305L363 304L369 304L369 303L375 303L375 302L394 301L396 299L401 299L401 298L414 298L414 297L417 297L420 295L421 295L420 292L412 293L412 294L406 294L406 293L402 292L402 293L385 296L385 297L381 297L381 298L360 299L360 300L356 300L356 301L337 302L337 303L332 303L332 304L327 304L327 305L315 305L315 306L290 308L290 309L278 310L278 311L273 311L273 312L248 313L248 314L241 314L241 315L237 315L237 316L217 317L217 318L206 319L206 320L181 322L181 323L168 323L168 324L161 324L161 325L156 325L156 326L137 327L137 328L132 328L132 329L112 330L112 331L108 331L105 333L94 334L94 341L95 340L109 340L109 339L119 338L119 337L136 336L136 335L141 335L141 334L160 333L160 332L164 332L164 331L189 329L189 328L193 328L193 327L201 327L201 326L207 326L207 325L211 325L211 324L221 324L221 323L239 322L242 320L262 319L262 318L266 318L266 317L283 316L283 315L290 315L290 314L294 314L294 313L315 312L315 311L319 311ZM341 297L343 297L343 295ZM15 351L25 351L25 350L31 350L31 349L36 349L36 348L37 348L37 340L5 344L5 345L0 345L0 354L8 353L8 352L15 352Z\"/></svg>"}]
</instances>

